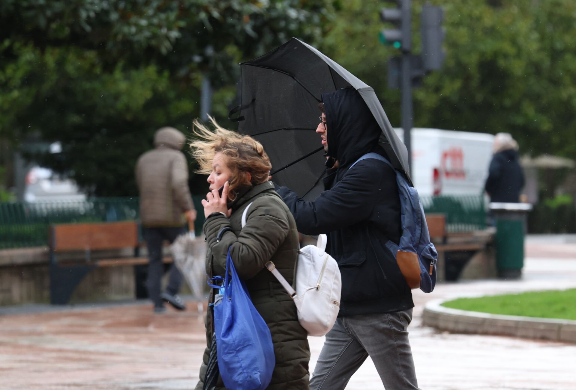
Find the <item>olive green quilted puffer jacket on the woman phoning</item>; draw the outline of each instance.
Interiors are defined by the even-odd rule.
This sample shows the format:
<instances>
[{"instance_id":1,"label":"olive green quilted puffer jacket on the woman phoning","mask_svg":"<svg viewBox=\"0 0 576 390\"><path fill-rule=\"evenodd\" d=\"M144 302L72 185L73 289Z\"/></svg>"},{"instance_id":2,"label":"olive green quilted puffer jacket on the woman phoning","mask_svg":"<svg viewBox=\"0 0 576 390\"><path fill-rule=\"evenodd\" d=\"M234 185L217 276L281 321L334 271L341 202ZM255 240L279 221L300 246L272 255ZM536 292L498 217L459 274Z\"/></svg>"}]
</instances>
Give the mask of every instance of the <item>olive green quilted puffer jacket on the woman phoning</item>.
<instances>
[{"instance_id":1,"label":"olive green quilted puffer jacket on the woman phoning","mask_svg":"<svg viewBox=\"0 0 576 390\"><path fill-rule=\"evenodd\" d=\"M246 225L242 228L242 213L248 205ZM226 231L220 242L216 242L218 232L225 227L232 231ZM207 274L223 276L230 248L238 276L246 282L253 304L270 328L276 366L268 389L309 389L310 350L306 330L298 322L294 301L264 266L268 261L274 262L276 269L292 284L299 248L298 232L289 209L274 192L274 185L259 184L240 194L232 205L230 219L223 215L210 217L204 223L204 234L208 244ZM214 291L210 294L210 302L213 300ZM196 390L203 387L213 332L210 306L206 315L208 347ZM219 378L217 389L224 388Z\"/></svg>"}]
</instances>

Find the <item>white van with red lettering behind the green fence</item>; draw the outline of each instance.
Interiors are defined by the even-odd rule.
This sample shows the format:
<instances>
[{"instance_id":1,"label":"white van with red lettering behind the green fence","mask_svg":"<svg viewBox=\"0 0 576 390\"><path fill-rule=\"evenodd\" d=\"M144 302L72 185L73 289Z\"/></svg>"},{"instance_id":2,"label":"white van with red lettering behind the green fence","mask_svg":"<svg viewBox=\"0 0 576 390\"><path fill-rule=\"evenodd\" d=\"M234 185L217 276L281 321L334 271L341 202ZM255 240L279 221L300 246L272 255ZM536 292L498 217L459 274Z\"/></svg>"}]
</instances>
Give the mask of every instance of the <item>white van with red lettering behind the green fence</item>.
<instances>
[{"instance_id":1,"label":"white van with red lettering behind the green fence","mask_svg":"<svg viewBox=\"0 0 576 390\"><path fill-rule=\"evenodd\" d=\"M404 141L403 129L395 129ZM480 195L494 135L413 128L411 177L420 196Z\"/></svg>"}]
</instances>

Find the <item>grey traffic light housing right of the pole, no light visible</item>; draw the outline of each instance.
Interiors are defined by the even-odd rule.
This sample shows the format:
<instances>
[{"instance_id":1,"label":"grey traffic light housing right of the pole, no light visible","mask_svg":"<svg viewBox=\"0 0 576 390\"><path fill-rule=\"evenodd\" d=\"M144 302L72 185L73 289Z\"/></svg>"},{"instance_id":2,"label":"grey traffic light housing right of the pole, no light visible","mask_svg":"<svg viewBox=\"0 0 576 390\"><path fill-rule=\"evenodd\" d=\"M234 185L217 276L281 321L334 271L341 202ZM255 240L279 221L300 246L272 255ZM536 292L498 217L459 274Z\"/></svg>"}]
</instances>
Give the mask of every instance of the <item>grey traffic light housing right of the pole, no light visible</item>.
<instances>
[{"instance_id":1,"label":"grey traffic light housing right of the pole, no light visible","mask_svg":"<svg viewBox=\"0 0 576 390\"><path fill-rule=\"evenodd\" d=\"M442 7L425 5L420 14L420 35L422 35L422 64L425 71L438 70L444 64L446 53L444 42L444 10Z\"/></svg>"}]
</instances>

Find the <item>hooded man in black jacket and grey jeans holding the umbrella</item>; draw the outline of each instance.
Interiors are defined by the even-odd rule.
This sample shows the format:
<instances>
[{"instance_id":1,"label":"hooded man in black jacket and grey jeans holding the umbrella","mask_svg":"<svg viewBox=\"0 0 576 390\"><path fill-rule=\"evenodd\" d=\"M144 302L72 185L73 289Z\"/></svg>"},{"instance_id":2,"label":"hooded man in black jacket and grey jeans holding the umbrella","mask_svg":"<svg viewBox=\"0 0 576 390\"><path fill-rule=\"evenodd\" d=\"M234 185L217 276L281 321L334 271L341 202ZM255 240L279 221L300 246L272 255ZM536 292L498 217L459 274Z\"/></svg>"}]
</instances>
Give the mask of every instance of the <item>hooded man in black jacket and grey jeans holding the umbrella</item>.
<instances>
[{"instance_id":1,"label":"hooded man in black jacket and grey jeans holding the umbrella","mask_svg":"<svg viewBox=\"0 0 576 390\"><path fill-rule=\"evenodd\" d=\"M381 129L355 89L322 95L316 132L332 166L324 192L304 201L286 187L276 191L298 231L327 234L327 252L342 274L340 312L310 381L312 389L344 389L368 356L386 389L418 389L407 327L412 292L387 240L399 243L400 197L395 171L377 159ZM334 165L332 165L334 164Z\"/></svg>"}]
</instances>

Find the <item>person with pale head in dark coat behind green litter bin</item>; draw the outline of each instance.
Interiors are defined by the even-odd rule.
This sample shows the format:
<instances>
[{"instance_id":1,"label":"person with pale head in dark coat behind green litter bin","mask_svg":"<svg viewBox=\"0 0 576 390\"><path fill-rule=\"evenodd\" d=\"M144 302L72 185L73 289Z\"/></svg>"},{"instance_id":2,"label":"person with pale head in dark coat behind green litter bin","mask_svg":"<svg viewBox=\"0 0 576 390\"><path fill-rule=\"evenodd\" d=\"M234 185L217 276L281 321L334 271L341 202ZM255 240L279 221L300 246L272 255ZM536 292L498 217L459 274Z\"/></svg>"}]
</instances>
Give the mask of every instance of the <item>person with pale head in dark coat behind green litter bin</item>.
<instances>
[{"instance_id":1,"label":"person with pale head in dark coat behind green litter bin","mask_svg":"<svg viewBox=\"0 0 576 390\"><path fill-rule=\"evenodd\" d=\"M518 143L509 133L494 138L494 156L488 169L486 192L491 202L520 202L524 173L518 162Z\"/></svg>"}]
</instances>

